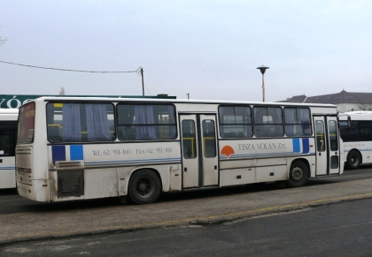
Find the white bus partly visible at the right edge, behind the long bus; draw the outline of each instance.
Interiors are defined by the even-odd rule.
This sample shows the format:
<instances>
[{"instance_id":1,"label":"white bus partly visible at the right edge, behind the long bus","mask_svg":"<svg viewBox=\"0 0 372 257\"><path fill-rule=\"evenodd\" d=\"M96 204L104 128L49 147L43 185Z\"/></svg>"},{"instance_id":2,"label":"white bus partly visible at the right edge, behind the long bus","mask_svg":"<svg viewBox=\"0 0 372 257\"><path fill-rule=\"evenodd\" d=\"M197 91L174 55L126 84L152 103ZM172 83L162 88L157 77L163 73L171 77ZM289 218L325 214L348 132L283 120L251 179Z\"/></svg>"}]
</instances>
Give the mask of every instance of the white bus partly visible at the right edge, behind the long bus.
<instances>
[{"instance_id":1,"label":"white bus partly visible at the right edge, behind the long bus","mask_svg":"<svg viewBox=\"0 0 372 257\"><path fill-rule=\"evenodd\" d=\"M372 163L372 111L339 114L339 128L346 167L354 170L362 163Z\"/></svg>"}]
</instances>

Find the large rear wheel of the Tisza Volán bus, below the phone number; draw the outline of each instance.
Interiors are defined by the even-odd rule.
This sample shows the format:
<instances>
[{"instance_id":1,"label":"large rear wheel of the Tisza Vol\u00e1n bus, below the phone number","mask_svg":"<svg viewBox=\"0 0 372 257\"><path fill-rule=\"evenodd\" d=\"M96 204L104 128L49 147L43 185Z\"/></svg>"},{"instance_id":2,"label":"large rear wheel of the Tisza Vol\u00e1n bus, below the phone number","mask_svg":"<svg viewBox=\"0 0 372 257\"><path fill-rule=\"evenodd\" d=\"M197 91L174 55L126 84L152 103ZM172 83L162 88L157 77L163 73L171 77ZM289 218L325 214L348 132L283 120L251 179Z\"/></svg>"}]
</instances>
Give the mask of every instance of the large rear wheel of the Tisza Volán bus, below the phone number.
<instances>
[{"instance_id":1,"label":"large rear wheel of the Tisza Vol\u00e1n bus, below the phone number","mask_svg":"<svg viewBox=\"0 0 372 257\"><path fill-rule=\"evenodd\" d=\"M154 202L158 199L160 191L160 179L151 170L138 170L129 180L128 197L136 204Z\"/></svg>"}]
</instances>

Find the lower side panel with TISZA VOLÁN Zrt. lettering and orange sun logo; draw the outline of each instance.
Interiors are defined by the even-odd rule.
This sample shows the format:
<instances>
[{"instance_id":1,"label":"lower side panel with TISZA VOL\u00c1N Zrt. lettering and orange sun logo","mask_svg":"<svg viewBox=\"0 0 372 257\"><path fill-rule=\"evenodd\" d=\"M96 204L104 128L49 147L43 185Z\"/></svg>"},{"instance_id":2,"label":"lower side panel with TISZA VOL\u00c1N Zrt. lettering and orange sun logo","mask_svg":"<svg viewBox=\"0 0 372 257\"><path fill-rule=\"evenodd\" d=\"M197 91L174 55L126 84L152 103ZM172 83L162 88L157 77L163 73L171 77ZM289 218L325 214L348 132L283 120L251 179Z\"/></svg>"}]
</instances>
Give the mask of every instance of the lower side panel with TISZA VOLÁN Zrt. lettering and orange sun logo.
<instances>
[{"instance_id":1,"label":"lower side panel with TISZA VOL\u00c1N Zrt. lettering and orange sun logo","mask_svg":"<svg viewBox=\"0 0 372 257\"><path fill-rule=\"evenodd\" d=\"M294 159L314 163L314 154L314 138L220 140L221 186L286 180Z\"/></svg>"}]
</instances>

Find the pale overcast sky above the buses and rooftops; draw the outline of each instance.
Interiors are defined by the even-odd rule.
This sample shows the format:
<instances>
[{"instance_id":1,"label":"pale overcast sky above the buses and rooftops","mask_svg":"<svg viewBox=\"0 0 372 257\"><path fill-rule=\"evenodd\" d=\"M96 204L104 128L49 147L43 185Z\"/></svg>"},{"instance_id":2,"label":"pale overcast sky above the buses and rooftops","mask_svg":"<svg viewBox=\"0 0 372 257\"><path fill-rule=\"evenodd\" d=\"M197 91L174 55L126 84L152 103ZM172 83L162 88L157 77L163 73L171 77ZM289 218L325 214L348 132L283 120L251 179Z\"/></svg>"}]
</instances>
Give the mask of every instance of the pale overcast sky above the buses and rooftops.
<instances>
[{"instance_id":1,"label":"pale overcast sky above the buses and rooftops","mask_svg":"<svg viewBox=\"0 0 372 257\"><path fill-rule=\"evenodd\" d=\"M0 94L262 100L372 92L372 1L0 0Z\"/></svg>"}]
</instances>

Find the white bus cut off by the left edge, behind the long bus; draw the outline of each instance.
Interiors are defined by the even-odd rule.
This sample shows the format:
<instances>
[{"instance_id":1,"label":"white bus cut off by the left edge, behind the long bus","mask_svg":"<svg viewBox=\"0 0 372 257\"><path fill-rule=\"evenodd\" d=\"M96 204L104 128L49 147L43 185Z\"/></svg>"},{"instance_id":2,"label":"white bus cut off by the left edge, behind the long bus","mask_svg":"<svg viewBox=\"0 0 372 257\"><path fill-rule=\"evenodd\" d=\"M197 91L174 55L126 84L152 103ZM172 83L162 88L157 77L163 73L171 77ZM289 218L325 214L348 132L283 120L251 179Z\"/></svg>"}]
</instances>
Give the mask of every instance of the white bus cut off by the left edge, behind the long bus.
<instances>
[{"instance_id":1,"label":"white bus cut off by the left edge, behind the long bus","mask_svg":"<svg viewBox=\"0 0 372 257\"><path fill-rule=\"evenodd\" d=\"M0 109L0 189L15 188L15 146L18 110Z\"/></svg>"}]
</instances>

